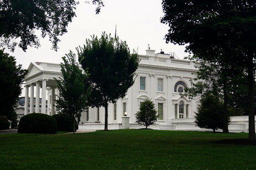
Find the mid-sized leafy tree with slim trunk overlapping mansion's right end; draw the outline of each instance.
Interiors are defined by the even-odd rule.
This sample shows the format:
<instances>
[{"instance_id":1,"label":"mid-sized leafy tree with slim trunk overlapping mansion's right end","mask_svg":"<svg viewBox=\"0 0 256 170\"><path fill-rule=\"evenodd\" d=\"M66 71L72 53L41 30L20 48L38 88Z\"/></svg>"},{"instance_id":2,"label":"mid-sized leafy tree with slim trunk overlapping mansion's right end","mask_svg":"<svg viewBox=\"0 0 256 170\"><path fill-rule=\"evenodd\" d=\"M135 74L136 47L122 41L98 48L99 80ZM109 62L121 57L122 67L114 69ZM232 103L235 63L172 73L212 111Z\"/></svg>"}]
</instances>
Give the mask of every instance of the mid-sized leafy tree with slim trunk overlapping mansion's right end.
<instances>
[{"instance_id":1,"label":"mid-sized leafy tree with slim trunk overlapping mansion's right end","mask_svg":"<svg viewBox=\"0 0 256 170\"><path fill-rule=\"evenodd\" d=\"M203 96L208 93L212 93L222 98L224 101L223 104L223 132L228 132L228 107L231 102L229 102L233 87L236 87L238 82L232 81L232 79L237 78L243 71L234 70L231 72L229 68L222 66L216 62L205 62L203 60L199 60L197 57L190 57L190 60L196 60L200 62L198 66L198 72L196 72L197 78L203 80L201 83L191 81L192 87L185 89L185 94L188 95L189 98L194 98L199 96ZM233 85L233 86L232 86ZM229 94L229 95L228 95Z\"/></svg>"}]
</instances>

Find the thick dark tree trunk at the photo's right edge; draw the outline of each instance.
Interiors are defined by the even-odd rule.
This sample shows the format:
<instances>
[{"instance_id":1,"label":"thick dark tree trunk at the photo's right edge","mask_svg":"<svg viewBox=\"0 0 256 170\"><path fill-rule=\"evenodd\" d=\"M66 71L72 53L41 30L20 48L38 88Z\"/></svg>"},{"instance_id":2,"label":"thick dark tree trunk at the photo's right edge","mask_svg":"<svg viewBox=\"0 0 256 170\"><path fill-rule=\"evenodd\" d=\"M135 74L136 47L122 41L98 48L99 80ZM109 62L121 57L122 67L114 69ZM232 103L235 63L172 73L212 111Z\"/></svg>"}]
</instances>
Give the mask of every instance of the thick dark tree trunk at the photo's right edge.
<instances>
[{"instance_id":1,"label":"thick dark tree trunk at the photo's right edge","mask_svg":"<svg viewBox=\"0 0 256 170\"><path fill-rule=\"evenodd\" d=\"M255 105L254 105L254 72L253 54L248 52L248 113L249 113L249 140L255 140Z\"/></svg>"}]
</instances>

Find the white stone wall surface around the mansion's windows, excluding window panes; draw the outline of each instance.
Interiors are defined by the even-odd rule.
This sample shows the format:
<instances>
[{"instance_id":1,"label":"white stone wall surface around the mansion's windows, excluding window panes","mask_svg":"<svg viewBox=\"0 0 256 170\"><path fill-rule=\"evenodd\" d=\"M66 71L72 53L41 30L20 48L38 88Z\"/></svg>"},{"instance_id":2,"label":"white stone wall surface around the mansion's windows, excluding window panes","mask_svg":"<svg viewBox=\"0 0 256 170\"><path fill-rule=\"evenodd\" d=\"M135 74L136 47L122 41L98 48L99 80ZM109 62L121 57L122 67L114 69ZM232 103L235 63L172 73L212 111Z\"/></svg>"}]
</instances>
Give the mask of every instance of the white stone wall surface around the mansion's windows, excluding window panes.
<instances>
[{"instance_id":1,"label":"white stone wall surface around the mansion's windows, excluding window panes","mask_svg":"<svg viewBox=\"0 0 256 170\"><path fill-rule=\"evenodd\" d=\"M116 120L114 120L114 104L109 104L108 123L121 123L121 116L124 116L123 105L126 103L127 116L130 116L130 123L135 123L135 114L140 108L140 102L145 99L151 99L155 103L163 103L163 120L158 120L157 124L171 125L171 120L175 118L174 104L181 100L189 105L188 118L193 118L194 111L197 111L197 101L185 97L181 98L178 92L174 92L176 82L183 81L187 87L190 87L190 80L194 78L192 72L196 72L194 63L191 61L170 59L168 55L140 56L139 67L136 71L134 85L129 88L125 98L116 102ZM140 77L146 77L146 89L140 90ZM163 79L163 91L157 91L157 78ZM85 115L86 113L84 113ZM85 120L85 116L82 116ZM89 120L84 123L95 123L97 108L89 108ZM105 121L105 109L100 108L100 123ZM99 123L99 122L97 122Z\"/></svg>"}]
</instances>

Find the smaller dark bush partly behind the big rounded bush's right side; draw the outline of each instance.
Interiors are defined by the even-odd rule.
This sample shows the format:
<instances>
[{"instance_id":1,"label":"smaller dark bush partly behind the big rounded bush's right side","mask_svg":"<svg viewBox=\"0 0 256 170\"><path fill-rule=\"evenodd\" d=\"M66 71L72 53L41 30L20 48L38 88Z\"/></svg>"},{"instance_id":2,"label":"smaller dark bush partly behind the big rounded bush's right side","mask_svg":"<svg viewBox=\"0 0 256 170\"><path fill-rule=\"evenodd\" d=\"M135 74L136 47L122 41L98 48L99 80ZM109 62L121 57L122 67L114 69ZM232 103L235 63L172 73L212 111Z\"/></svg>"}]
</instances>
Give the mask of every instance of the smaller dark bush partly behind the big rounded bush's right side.
<instances>
[{"instance_id":1,"label":"smaller dark bush partly behind the big rounded bush's right side","mask_svg":"<svg viewBox=\"0 0 256 170\"><path fill-rule=\"evenodd\" d=\"M52 115L52 117L57 121L58 131L73 131L74 118L72 118L70 115L55 114ZM76 126L76 130L78 130L78 126Z\"/></svg>"}]
</instances>

